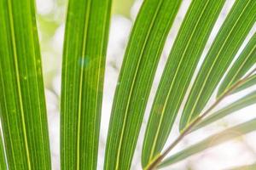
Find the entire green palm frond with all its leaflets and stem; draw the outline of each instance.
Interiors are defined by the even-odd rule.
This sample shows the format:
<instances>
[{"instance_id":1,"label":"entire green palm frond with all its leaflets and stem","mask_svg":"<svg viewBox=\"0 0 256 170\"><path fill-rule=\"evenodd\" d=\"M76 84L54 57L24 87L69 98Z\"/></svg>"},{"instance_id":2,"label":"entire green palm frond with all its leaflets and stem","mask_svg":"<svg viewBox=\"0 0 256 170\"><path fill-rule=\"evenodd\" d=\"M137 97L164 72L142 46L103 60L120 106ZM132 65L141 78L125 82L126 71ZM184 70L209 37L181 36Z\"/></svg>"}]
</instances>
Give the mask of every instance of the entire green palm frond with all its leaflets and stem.
<instances>
[{"instance_id":1,"label":"entire green palm frond with all its leaflets and stem","mask_svg":"<svg viewBox=\"0 0 256 170\"><path fill-rule=\"evenodd\" d=\"M68 3L61 80L61 169L96 169L111 3ZM181 3L182 0L144 0L140 8L113 99L104 169L131 168L160 54ZM195 82L191 81L224 3L192 0L189 6L154 96L143 139L145 170L169 166L238 136L227 135L230 131L241 135L256 130L253 119L167 157L187 134L256 102L253 91L213 112L230 94L255 85L255 32L232 64L255 24L254 0L236 0ZM1 0L0 113L4 144L0 140L0 169L51 168L41 70L34 1ZM215 90L216 99L207 106ZM186 104L179 123L180 135L163 150L183 100ZM209 145L208 141L216 136L223 138Z\"/></svg>"}]
</instances>

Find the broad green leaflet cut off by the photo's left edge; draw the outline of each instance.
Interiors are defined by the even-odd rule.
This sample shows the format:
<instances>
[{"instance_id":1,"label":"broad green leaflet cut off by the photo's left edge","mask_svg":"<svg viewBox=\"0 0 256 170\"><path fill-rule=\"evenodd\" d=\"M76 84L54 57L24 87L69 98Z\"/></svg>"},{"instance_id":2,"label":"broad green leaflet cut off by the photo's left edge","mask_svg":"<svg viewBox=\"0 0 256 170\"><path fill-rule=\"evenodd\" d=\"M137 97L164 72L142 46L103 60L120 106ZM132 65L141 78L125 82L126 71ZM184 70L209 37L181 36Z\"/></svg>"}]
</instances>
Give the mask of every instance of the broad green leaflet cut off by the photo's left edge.
<instances>
[{"instance_id":1,"label":"broad green leaflet cut off by the photo's left edge","mask_svg":"<svg viewBox=\"0 0 256 170\"><path fill-rule=\"evenodd\" d=\"M34 6L0 1L0 113L9 170L51 169Z\"/></svg>"}]
</instances>

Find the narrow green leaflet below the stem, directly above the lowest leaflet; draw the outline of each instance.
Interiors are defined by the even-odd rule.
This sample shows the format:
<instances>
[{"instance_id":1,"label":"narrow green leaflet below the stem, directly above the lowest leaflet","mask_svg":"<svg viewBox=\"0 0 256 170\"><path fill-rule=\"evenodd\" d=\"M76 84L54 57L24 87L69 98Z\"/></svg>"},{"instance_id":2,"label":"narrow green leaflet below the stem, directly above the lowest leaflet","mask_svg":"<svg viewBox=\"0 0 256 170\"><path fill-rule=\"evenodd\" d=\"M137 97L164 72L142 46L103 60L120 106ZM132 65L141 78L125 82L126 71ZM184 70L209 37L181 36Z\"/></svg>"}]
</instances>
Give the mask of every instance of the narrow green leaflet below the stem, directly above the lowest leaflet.
<instances>
[{"instance_id":1,"label":"narrow green leaflet below the stem, directly above the lowest leaflet","mask_svg":"<svg viewBox=\"0 0 256 170\"><path fill-rule=\"evenodd\" d=\"M235 111L239 111L239 110L247 107L248 105L253 105L253 104L256 104L256 91L254 91L251 94L247 94L246 96L242 97L241 99L238 99L236 102L234 102L230 105L227 105L226 107L224 107L223 109L221 109L215 113L212 113L210 116L207 116L193 128L193 131L195 131L201 127L205 127L212 122L216 122L216 121L220 120L224 116L228 116Z\"/></svg>"}]
</instances>

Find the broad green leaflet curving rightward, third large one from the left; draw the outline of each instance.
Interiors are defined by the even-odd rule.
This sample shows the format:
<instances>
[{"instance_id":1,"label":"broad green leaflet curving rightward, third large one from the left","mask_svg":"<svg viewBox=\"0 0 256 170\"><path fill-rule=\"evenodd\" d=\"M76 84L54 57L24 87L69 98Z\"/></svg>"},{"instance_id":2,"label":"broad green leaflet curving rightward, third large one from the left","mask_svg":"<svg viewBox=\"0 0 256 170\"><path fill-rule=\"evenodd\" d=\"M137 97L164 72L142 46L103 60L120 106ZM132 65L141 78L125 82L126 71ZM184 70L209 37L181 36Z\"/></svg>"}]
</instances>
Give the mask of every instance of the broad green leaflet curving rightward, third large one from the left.
<instances>
[{"instance_id":1,"label":"broad green leaflet curving rightward, third large one from the left","mask_svg":"<svg viewBox=\"0 0 256 170\"><path fill-rule=\"evenodd\" d=\"M107 170L130 169L154 73L181 0L145 0L131 31L113 99Z\"/></svg>"}]
</instances>

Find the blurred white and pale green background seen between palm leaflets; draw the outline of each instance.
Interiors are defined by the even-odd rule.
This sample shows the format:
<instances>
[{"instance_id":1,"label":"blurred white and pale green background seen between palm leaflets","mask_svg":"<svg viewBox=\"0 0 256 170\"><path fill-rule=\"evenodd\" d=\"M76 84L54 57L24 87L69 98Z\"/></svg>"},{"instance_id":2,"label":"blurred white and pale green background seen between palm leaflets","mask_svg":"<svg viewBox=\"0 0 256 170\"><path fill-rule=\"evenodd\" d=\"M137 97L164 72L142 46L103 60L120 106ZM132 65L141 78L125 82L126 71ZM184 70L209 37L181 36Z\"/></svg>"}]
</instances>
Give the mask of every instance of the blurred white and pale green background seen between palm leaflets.
<instances>
[{"instance_id":1,"label":"blurred white and pale green background seen between palm leaflets","mask_svg":"<svg viewBox=\"0 0 256 170\"><path fill-rule=\"evenodd\" d=\"M226 0L224 8L218 18L216 25L212 31L211 37L207 42L207 47L203 53L203 56L207 54L207 49L211 45L214 36L217 34L219 27L221 26L224 18L228 14L232 4L235 0ZM107 65L105 71L105 85L104 85L104 97L102 107L102 127L100 134L100 148L98 156L98 169L102 169L104 160L104 148L108 133L108 120L111 111L111 105L113 101L114 88L116 86L117 78L119 75L120 66L125 52L125 46L128 41L131 27L136 19L137 11L142 4L142 0L113 0L113 12L111 18L111 26L109 32L108 42L108 56ZM184 14L191 0L183 0L181 8L177 14L177 18L174 21L172 30L166 42L162 57L160 59L160 65L156 73L154 80L154 86L150 94L148 105L152 104L154 99L154 93L156 91L158 82L160 81L160 74L164 68L166 58L172 48L172 43L177 36L177 31L183 20ZM61 94L61 54L62 44L64 39L65 18L67 12L67 0L37 0L37 19L38 19L38 34L40 38L41 53L43 59L44 68L44 85L46 87L46 100L48 108L49 118L49 134L52 154L52 165L54 170L60 169L60 94ZM253 35L256 31L256 26L247 37ZM244 42L242 48L246 44ZM238 53L238 54L239 54ZM248 94L250 91L255 90L256 87L241 93L231 95L228 99L225 99L217 109L224 107L224 105L241 98L241 96ZM143 145L143 133L145 131L146 122L148 119L148 106L146 115L143 122L142 132L137 143L137 150L133 159L132 169L141 169L140 157ZM177 145L177 148L172 150L172 153L178 150L184 149L191 144L195 144L201 139L207 138L212 133L220 132L221 130L235 126L241 122L256 117L256 105L248 106L241 111L236 111L232 116L227 116L223 120L212 123L211 125L189 134L188 137ZM239 133L239 132L230 132ZM173 139L178 135L177 122L172 129L170 139L167 144L170 144ZM216 139L218 140L218 138ZM214 141L212 141L214 142ZM234 167L244 164L251 164L256 161L256 133L248 133L247 135L219 144L216 147L205 150L195 156L190 156L185 161L180 161L174 164L172 167L166 169L176 170L219 170L227 169L228 167Z\"/></svg>"}]
</instances>

